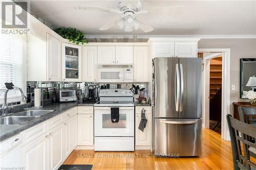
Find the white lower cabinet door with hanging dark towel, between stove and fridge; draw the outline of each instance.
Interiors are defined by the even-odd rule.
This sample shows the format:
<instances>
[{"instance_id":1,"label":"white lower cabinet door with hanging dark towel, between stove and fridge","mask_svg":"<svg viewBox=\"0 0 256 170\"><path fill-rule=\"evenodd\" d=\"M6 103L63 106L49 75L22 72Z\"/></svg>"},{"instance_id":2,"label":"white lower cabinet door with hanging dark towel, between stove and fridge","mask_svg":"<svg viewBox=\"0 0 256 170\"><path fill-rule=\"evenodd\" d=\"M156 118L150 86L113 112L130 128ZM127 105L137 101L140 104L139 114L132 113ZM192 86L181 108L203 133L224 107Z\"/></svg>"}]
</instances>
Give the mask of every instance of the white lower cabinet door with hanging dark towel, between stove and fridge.
<instances>
[{"instance_id":1,"label":"white lower cabinet door with hanging dark towel, between stove and fridge","mask_svg":"<svg viewBox=\"0 0 256 170\"><path fill-rule=\"evenodd\" d=\"M136 146L151 146L152 117L151 117L151 114L145 114L145 115L147 119L147 124L143 132L139 130L141 114L135 115L135 145Z\"/></svg>"}]
</instances>

